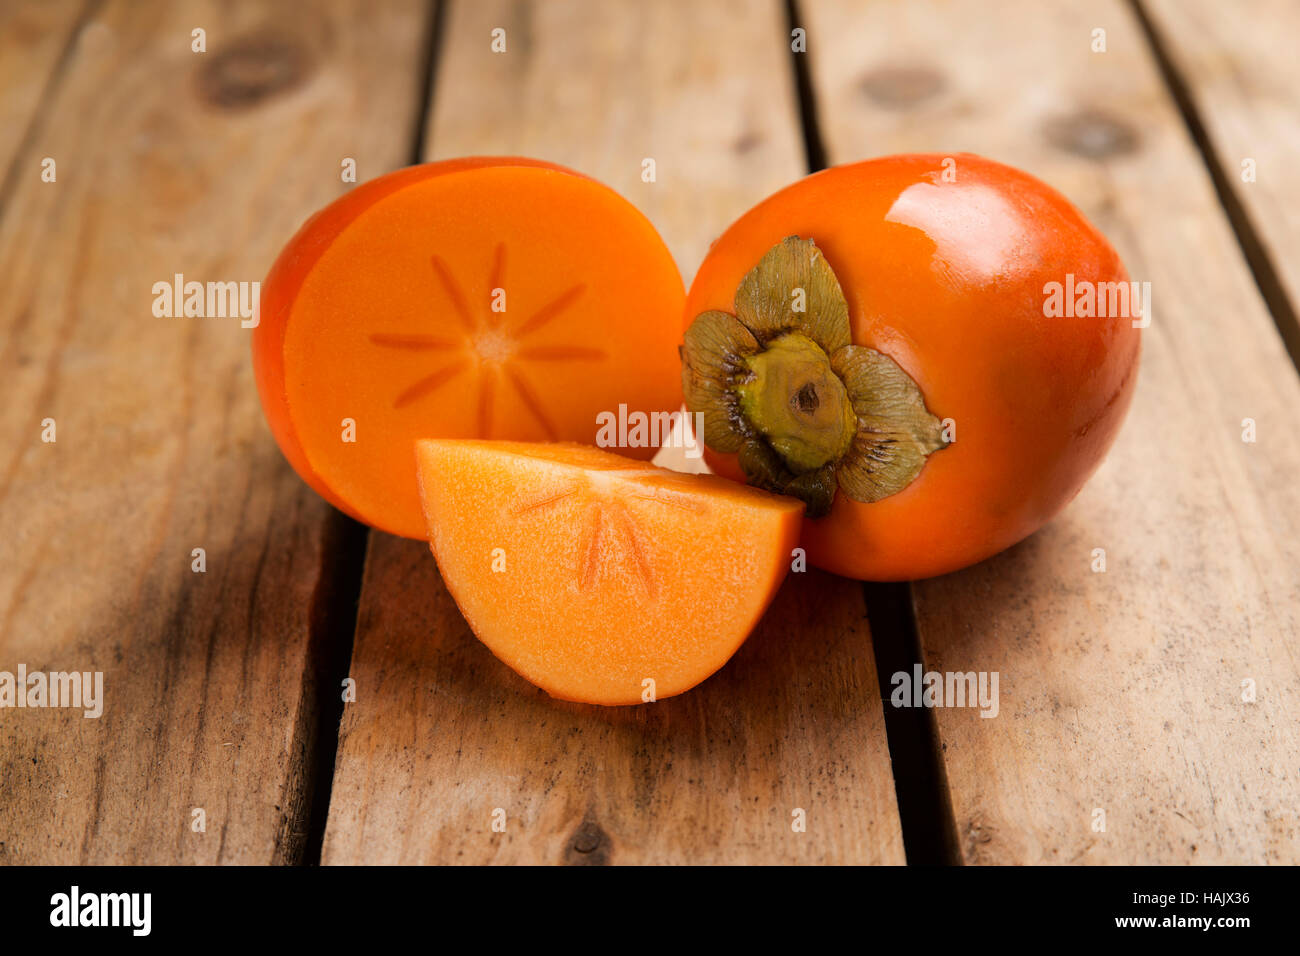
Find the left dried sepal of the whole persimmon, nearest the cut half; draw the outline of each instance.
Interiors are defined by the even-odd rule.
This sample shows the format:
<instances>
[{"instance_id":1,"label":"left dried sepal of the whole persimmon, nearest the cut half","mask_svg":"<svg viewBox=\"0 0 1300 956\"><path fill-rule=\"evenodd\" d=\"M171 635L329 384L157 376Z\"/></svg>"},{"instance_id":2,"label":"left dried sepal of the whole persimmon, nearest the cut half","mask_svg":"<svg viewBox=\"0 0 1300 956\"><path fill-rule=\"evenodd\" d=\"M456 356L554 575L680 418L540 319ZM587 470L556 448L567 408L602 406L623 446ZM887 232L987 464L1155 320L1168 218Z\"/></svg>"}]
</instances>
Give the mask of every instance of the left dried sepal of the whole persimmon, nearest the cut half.
<instances>
[{"instance_id":1,"label":"left dried sepal of the whole persimmon, nearest the cut half","mask_svg":"<svg viewBox=\"0 0 1300 956\"><path fill-rule=\"evenodd\" d=\"M686 329L681 392L686 407L703 416L702 437L715 451L738 451L753 434L736 407L732 386L748 375L744 359L758 349L749 329L727 312L701 312Z\"/></svg>"}]
</instances>

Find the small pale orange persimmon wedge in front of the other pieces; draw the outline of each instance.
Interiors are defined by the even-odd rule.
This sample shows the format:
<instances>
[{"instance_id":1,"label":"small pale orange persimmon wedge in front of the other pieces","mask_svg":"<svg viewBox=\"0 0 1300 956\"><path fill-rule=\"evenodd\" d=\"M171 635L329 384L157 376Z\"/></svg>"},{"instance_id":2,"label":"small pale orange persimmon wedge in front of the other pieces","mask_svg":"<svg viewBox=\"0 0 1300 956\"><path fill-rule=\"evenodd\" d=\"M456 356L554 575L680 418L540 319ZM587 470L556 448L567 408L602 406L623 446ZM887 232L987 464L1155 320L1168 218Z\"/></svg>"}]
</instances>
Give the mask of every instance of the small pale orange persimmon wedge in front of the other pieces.
<instances>
[{"instance_id":1,"label":"small pale orange persimmon wedge in front of the other pieces","mask_svg":"<svg viewBox=\"0 0 1300 956\"><path fill-rule=\"evenodd\" d=\"M488 648L554 697L688 691L785 578L803 506L573 444L416 442L429 540Z\"/></svg>"}]
</instances>

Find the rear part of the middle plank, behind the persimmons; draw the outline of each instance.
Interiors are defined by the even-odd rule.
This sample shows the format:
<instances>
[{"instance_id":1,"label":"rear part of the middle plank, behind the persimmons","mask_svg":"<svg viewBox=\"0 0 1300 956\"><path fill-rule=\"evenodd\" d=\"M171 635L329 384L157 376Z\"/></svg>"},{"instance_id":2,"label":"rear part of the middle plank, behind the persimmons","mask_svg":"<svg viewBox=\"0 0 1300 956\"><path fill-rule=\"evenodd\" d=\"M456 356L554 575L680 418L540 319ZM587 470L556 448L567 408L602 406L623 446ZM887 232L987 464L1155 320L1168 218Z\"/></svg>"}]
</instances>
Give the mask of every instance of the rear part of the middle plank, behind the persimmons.
<instances>
[{"instance_id":1,"label":"rear part of the middle plank, behind the persimmons","mask_svg":"<svg viewBox=\"0 0 1300 956\"><path fill-rule=\"evenodd\" d=\"M772 0L454 0L430 159L521 153L593 176L645 212L689 284L723 229L805 172L784 38Z\"/></svg>"}]
</instances>

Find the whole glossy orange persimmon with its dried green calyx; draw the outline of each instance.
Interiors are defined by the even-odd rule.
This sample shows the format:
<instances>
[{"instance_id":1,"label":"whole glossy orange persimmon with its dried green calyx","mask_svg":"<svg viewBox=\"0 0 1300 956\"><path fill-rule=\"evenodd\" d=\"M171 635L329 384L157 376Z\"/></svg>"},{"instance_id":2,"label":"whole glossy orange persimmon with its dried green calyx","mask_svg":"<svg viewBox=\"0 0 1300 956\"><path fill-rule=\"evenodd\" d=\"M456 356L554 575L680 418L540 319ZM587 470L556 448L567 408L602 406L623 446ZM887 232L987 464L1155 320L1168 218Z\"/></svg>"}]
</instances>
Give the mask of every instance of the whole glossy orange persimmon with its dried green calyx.
<instances>
[{"instance_id":1,"label":"whole glossy orange persimmon with its dried green calyx","mask_svg":"<svg viewBox=\"0 0 1300 956\"><path fill-rule=\"evenodd\" d=\"M1149 303L1045 183L906 155L755 206L685 319L712 470L802 498L811 563L907 580L996 554L1074 498L1128 410Z\"/></svg>"}]
</instances>

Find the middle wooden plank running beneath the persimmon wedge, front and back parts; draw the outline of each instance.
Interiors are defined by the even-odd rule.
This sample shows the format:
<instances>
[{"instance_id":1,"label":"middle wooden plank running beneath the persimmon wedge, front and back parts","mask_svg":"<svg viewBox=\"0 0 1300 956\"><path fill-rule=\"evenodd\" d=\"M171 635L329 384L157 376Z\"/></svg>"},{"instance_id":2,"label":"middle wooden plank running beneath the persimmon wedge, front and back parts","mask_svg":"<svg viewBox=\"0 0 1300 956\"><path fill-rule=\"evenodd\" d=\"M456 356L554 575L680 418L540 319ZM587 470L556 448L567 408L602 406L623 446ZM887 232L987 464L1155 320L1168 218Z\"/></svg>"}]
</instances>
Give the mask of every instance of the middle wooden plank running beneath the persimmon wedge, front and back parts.
<instances>
[{"instance_id":1,"label":"middle wooden plank running beneath the persimmon wedge, front and back parts","mask_svg":"<svg viewBox=\"0 0 1300 956\"><path fill-rule=\"evenodd\" d=\"M802 172L783 21L757 1L455 4L429 144L595 176L690 273ZM498 26L506 55L489 49ZM324 862L902 862L849 581L793 576L702 687L602 709L515 676L469 635L426 545L372 535L351 674ZM792 831L797 808L807 832Z\"/></svg>"}]
</instances>

